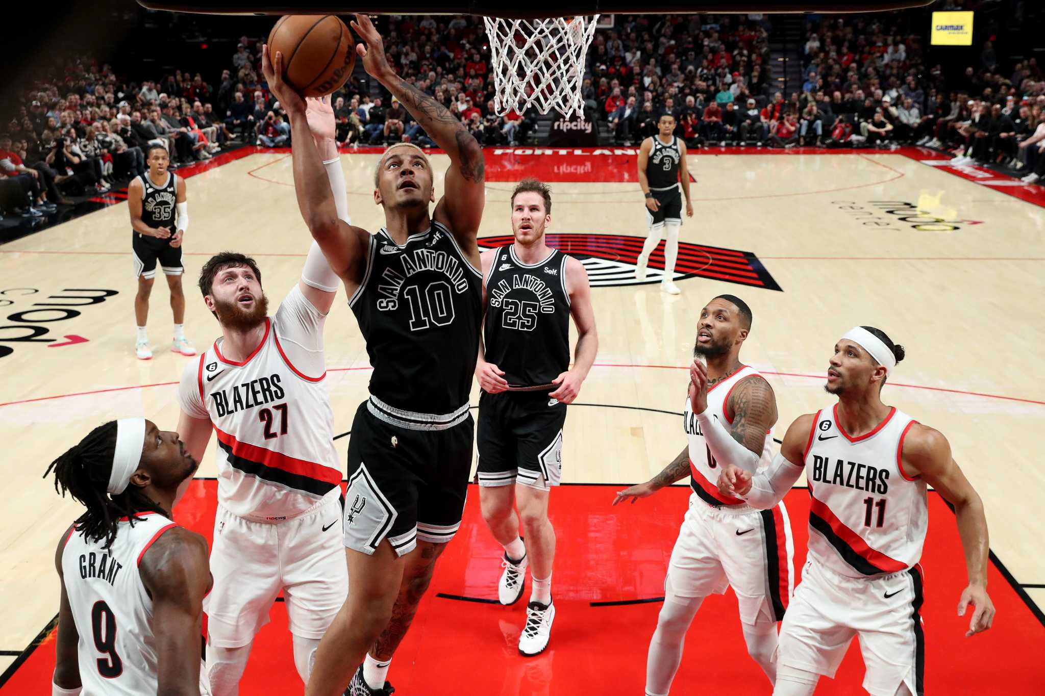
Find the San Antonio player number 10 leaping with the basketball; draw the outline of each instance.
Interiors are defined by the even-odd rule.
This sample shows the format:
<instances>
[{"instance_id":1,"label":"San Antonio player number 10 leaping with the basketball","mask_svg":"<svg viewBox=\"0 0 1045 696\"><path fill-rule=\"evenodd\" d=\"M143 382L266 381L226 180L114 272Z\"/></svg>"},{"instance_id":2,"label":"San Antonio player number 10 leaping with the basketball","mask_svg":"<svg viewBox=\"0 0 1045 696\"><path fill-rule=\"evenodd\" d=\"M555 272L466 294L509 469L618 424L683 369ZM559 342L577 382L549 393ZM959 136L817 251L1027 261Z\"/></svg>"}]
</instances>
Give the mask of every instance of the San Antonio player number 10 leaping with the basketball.
<instances>
[{"instance_id":1,"label":"San Antonio player number 10 leaping with the basketball","mask_svg":"<svg viewBox=\"0 0 1045 696\"><path fill-rule=\"evenodd\" d=\"M263 52L265 78L294 130L302 217L345 285L374 368L348 446L348 599L320 644L308 696L340 695L350 680L353 696L389 691L392 654L461 525L482 318L475 243L485 201L482 148L442 104L395 74L368 17L356 15L351 24L366 43L356 52L367 72L450 165L444 195L429 211L435 176L427 157L409 143L393 145L374 172L374 203L384 208L386 226L371 235L339 219L323 157L301 118L304 101L282 79L286 56Z\"/></svg>"}]
</instances>

